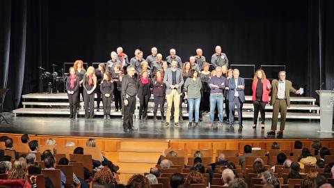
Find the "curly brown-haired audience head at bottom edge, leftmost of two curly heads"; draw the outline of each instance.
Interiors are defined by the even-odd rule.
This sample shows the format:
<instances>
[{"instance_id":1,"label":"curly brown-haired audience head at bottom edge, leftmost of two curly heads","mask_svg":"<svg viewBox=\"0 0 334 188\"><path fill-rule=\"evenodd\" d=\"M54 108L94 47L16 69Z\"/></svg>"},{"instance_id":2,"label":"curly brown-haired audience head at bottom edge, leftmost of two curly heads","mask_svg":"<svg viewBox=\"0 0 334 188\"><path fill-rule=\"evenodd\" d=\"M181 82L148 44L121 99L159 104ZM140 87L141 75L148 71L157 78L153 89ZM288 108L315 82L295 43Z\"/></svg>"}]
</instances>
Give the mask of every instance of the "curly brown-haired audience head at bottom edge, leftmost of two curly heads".
<instances>
[{"instance_id":1,"label":"curly brown-haired audience head at bottom edge, leftmost of two curly heads","mask_svg":"<svg viewBox=\"0 0 334 188\"><path fill-rule=\"evenodd\" d=\"M93 188L112 188L115 187L114 183L113 173L106 166L95 173L93 178Z\"/></svg>"}]
</instances>

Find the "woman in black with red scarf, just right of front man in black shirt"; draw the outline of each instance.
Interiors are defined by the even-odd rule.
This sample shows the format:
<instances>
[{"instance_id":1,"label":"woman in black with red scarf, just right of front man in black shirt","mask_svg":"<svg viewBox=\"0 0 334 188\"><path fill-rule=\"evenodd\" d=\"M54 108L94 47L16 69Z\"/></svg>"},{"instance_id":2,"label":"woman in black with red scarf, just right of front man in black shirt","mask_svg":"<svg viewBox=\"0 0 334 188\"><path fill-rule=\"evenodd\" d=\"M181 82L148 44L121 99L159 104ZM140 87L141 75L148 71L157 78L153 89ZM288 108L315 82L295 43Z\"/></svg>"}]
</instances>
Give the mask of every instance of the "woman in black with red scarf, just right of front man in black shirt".
<instances>
[{"instance_id":1,"label":"woman in black with red scarf, just right of front man in black shirt","mask_svg":"<svg viewBox=\"0 0 334 188\"><path fill-rule=\"evenodd\" d=\"M148 77L148 71L141 72L141 78L137 80L137 96L139 98L139 119L148 118L148 101L151 97L152 80Z\"/></svg>"}]
</instances>

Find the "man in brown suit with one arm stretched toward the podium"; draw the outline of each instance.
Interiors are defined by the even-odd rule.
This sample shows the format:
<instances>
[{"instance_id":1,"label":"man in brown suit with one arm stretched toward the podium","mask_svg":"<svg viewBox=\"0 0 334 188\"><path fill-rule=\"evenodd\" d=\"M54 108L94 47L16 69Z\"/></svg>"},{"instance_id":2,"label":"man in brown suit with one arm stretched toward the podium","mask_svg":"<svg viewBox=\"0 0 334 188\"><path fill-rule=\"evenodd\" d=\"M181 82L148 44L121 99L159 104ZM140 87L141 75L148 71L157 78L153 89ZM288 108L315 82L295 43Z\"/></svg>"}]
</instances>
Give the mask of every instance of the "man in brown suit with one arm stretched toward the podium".
<instances>
[{"instance_id":1,"label":"man in brown suit with one arm stretched toward the podium","mask_svg":"<svg viewBox=\"0 0 334 188\"><path fill-rule=\"evenodd\" d=\"M270 105L273 106L273 118L271 118L271 130L268 135L275 135L278 122L278 112L280 112L280 131L278 136L283 136L283 130L285 128L285 118L287 116L287 107L290 107L290 92L300 94L299 90L292 87L292 83L285 79L286 72L280 71L278 78L274 79L271 83L273 86L273 93L271 94Z\"/></svg>"}]
</instances>

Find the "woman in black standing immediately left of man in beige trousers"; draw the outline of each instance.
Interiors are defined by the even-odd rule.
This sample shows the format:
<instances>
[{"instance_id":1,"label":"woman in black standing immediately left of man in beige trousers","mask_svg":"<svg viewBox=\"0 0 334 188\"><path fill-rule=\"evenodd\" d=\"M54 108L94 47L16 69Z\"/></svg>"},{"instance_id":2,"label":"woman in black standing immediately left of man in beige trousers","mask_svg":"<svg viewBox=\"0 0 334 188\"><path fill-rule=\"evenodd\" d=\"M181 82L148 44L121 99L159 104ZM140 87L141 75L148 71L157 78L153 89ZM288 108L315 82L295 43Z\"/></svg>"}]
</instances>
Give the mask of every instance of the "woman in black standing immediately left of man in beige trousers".
<instances>
[{"instance_id":1,"label":"woman in black standing immediately left of man in beige trousers","mask_svg":"<svg viewBox=\"0 0 334 188\"><path fill-rule=\"evenodd\" d=\"M157 120L157 111L160 104L161 120L164 120L164 104L166 97L166 84L164 83L164 73L162 70L155 72L153 79L153 96L154 96L154 120Z\"/></svg>"}]
</instances>

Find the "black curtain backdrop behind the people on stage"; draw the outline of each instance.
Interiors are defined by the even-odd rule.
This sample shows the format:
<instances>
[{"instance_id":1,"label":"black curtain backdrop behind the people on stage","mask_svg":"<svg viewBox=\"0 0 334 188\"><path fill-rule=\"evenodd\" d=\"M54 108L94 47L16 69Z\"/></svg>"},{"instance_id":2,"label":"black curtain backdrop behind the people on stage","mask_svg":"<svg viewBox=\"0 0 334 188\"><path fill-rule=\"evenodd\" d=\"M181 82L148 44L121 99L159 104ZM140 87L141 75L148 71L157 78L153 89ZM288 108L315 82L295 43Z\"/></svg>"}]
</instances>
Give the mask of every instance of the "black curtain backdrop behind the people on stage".
<instances>
[{"instance_id":1,"label":"black curtain backdrop behind the people on stage","mask_svg":"<svg viewBox=\"0 0 334 188\"><path fill-rule=\"evenodd\" d=\"M334 88L331 0L4 0L0 8L0 83L10 89L7 111L19 105L21 95L38 92L39 66L51 71L52 63L62 67L76 59L106 62L119 46L130 58L135 49L146 57L157 47L166 57L175 48L182 61L200 47L210 61L221 45L233 64L286 65L287 79L304 87L306 96L317 97L322 83L323 89Z\"/></svg>"}]
</instances>

